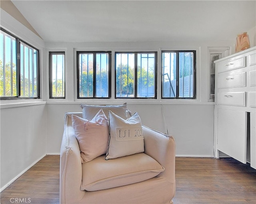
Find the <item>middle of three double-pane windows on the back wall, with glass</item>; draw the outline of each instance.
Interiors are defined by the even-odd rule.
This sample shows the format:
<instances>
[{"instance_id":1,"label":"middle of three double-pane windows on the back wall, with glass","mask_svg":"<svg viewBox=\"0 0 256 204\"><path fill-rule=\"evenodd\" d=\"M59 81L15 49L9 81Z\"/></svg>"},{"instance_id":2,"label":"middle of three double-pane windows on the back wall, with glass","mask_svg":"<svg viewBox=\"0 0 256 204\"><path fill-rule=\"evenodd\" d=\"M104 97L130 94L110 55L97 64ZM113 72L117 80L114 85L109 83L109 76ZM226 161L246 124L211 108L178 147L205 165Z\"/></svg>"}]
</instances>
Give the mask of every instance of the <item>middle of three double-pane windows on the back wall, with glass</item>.
<instances>
[{"instance_id":1,"label":"middle of three double-pane windows on the back wall, with glass","mask_svg":"<svg viewBox=\"0 0 256 204\"><path fill-rule=\"evenodd\" d=\"M116 98L156 98L157 52L116 52Z\"/></svg>"}]
</instances>

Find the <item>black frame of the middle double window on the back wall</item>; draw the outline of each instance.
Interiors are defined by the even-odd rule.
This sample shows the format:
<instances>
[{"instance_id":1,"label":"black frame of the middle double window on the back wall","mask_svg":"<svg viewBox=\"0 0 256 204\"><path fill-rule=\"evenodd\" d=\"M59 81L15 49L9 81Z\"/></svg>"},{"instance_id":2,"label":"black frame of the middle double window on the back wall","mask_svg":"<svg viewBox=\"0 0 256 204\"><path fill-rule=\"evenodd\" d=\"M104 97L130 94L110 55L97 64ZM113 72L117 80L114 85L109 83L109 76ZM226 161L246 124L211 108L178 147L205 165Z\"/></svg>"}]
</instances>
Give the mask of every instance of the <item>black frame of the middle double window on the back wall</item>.
<instances>
[{"instance_id":1,"label":"black frame of the middle double window on the back wall","mask_svg":"<svg viewBox=\"0 0 256 204\"><path fill-rule=\"evenodd\" d=\"M116 54L134 54L134 97L116 97ZM154 83L154 97L138 97L138 54L154 54L155 55L155 83ZM122 99L157 99L157 64L158 64L158 52L157 51L139 51L139 52L133 52L133 51L122 51L122 52L115 52L115 98L122 98Z\"/></svg>"}]
</instances>

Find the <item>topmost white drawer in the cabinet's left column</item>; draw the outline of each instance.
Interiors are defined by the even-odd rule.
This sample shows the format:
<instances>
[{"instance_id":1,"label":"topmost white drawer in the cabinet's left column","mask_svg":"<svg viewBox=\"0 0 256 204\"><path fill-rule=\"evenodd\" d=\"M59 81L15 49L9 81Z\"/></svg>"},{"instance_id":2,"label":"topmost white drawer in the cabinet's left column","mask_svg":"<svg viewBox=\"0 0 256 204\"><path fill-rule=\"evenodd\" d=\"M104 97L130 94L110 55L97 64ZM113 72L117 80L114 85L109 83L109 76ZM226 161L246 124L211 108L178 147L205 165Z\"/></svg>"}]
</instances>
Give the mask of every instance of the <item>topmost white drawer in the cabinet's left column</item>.
<instances>
[{"instance_id":1,"label":"topmost white drawer in the cabinet's left column","mask_svg":"<svg viewBox=\"0 0 256 204\"><path fill-rule=\"evenodd\" d=\"M245 57L236 60L224 60L218 63L218 73L225 72L227 70L238 69L246 66Z\"/></svg>"}]
</instances>

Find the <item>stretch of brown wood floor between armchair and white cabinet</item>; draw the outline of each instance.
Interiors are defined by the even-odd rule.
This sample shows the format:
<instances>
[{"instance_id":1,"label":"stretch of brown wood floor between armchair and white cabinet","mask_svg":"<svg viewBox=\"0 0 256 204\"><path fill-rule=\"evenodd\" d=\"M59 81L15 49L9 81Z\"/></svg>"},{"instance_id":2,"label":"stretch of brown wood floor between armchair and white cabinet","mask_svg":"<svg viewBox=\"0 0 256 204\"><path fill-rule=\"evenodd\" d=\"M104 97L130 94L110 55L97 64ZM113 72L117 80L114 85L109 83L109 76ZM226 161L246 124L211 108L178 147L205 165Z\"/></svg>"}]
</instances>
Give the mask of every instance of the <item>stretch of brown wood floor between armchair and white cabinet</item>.
<instances>
[{"instance_id":1,"label":"stretch of brown wood floor between armchair and white cabinet","mask_svg":"<svg viewBox=\"0 0 256 204\"><path fill-rule=\"evenodd\" d=\"M256 200L256 170L233 158L176 158L174 203L243 204Z\"/></svg>"}]
</instances>

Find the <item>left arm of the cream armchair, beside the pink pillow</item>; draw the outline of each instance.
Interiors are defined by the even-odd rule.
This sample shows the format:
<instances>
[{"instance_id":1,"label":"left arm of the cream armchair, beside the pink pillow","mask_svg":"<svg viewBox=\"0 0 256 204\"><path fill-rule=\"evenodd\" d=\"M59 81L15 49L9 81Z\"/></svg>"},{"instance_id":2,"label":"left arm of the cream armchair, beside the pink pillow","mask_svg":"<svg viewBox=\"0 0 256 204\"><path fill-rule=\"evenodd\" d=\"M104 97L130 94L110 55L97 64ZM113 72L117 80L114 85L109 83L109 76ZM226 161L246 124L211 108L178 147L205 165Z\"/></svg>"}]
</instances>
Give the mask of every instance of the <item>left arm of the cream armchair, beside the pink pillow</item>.
<instances>
[{"instance_id":1,"label":"left arm of the cream armchair, beside the pink pillow","mask_svg":"<svg viewBox=\"0 0 256 204\"><path fill-rule=\"evenodd\" d=\"M82 182L80 149L70 117L71 114L65 114L64 133L60 148L60 203L63 204L78 203L84 196L84 191L80 190Z\"/></svg>"}]
</instances>

